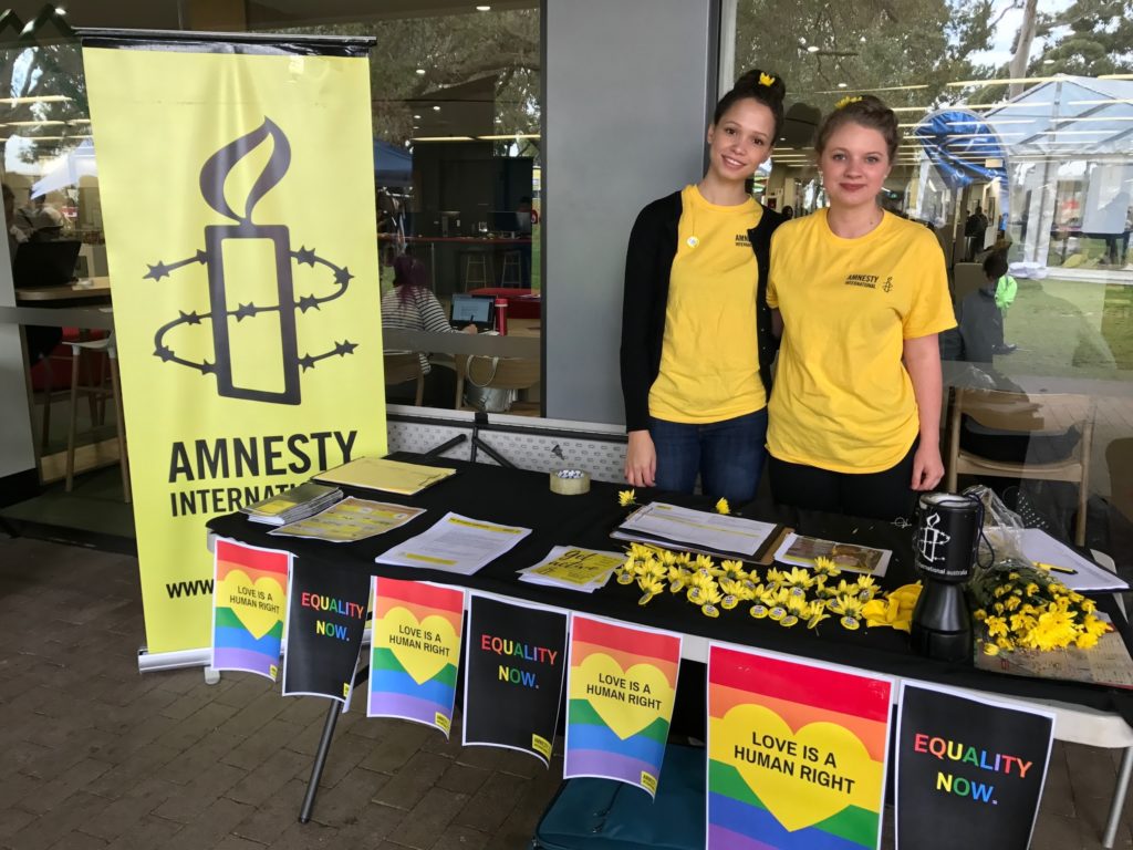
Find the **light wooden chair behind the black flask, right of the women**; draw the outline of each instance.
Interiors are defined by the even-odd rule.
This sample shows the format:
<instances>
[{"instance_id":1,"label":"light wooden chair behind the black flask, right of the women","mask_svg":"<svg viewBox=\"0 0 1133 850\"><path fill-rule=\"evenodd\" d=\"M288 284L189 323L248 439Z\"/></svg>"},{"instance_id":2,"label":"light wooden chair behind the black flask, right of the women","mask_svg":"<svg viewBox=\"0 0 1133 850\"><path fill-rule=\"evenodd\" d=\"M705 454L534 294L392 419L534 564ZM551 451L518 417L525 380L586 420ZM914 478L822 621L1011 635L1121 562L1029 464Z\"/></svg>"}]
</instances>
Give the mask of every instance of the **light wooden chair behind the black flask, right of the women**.
<instances>
[{"instance_id":1,"label":"light wooden chair behind the black flask, right of the women","mask_svg":"<svg viewBox=\"0 0 1133 850\"><path fill-rule=\"evenodd\" d=\"M1077 426L1077 445L1065 460L1049 464L1013 464L991 460L960 448L963 416L987 428L1029 433L1065 432ZM1074 542L1085 545L1085 501L1090 494L1090 445L1093 441L1093 401L1084 396L1002 392L957 386L948 422L948 456L945 460L946 486L956 492L960 475L988 475L1003 478L1038 478L1077 484L1077 518Z\"/></svg>"}]
</instances>

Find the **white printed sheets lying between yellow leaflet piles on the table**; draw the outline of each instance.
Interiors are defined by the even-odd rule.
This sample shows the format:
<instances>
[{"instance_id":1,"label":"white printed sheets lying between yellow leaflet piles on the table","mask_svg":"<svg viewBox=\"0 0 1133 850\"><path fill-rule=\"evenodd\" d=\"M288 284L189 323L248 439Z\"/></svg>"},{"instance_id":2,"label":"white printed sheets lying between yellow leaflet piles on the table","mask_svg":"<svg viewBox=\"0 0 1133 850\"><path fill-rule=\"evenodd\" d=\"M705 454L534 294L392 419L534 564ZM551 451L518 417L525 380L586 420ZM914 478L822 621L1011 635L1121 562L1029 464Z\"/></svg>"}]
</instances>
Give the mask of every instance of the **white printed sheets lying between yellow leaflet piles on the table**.
<instances>
[{"instance_id":1,"label":"white printed sheets lying between yellow leaflet piles on the table","mask_svg":"<svg viewBox=\"0 0 1133 850\"><path fill-rule=\"evenodd\" d=\"M374 560L395 567L425 567L471 576L531 533L449 511L426 532L410 537Z\"/></svg>"}]
</instances>

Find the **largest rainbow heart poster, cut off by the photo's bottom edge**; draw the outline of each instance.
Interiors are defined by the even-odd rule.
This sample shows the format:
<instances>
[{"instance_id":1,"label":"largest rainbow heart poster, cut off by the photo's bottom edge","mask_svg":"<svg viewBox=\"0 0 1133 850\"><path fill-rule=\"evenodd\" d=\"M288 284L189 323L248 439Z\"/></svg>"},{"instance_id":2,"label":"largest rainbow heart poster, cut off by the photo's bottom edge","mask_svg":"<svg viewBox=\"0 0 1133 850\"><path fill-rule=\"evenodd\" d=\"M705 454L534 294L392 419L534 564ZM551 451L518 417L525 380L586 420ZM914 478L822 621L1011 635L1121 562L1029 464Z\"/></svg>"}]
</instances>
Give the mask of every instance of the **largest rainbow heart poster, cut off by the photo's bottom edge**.
<instances>
[{"instance_id":1,"label":"largest rainbow heart poster, cut off by the photo's bottom edge","mask_svg":"<svg viewBox=\"0 0 1133 850\"><path fill-rule=\"evenodd\" d=\"M708 850L878 847L892 687L712 646Z\"/></svg>"}]
</instances>

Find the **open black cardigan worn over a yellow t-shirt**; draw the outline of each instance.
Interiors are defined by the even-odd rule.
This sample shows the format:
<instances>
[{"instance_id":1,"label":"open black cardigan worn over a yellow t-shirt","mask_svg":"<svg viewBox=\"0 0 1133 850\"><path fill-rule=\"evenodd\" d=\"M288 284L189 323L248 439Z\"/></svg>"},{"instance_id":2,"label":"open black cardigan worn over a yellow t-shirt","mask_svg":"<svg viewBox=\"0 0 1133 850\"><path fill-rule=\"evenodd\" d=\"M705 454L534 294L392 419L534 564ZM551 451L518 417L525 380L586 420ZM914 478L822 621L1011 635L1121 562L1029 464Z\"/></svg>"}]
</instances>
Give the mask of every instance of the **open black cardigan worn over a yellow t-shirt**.
<instances>
[{"instance_id":1,"label":"open black cardigan worn over a yellow t-shirt","mask_svg":"<svg viewBox=\"0 0 1133 850\"><path fill-rule=\"evenodd\" d=\"M676 228L681 220L681 193L674 192L646 206L633 223L625 253L625 291L622 300L622 398L625 430L649 427L649 388L661 371L661 348L665 337L668 277L676 256ZM772 233L783 216L764 207L759 223L748 231L759 267L756 291L756 330L759 340L759 377L768 397L772 391L772 360L778 340L772 332L767 306L767 273Z\"/></svg>"}]
</instances>

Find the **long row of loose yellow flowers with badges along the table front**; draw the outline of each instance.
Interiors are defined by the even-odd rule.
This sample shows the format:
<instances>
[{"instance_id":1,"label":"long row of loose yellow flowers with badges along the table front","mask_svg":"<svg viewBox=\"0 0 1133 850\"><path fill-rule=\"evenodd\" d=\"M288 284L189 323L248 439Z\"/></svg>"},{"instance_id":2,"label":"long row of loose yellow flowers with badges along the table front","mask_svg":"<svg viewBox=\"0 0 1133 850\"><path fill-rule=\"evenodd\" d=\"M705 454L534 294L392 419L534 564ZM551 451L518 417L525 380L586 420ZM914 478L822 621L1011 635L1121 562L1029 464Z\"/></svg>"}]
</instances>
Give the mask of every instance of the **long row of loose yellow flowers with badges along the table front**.
<instances>
[{"instance_id":1,"label":"long row of loose yellow flowers with badges along the table front","mask_svg":"<svg viewBox=\"0 0 1133 850\"><path fill-rule=\"evenodd\" d=\"M759 573L742 561L717 563L705 554L672 552L642 543L631 543L627 553L615 575L619 584L636 583L642 590L639 605L649 604L667 586L672 594L683 593L705 617L719 617L721 611L749 602L752 618L767 618L786 628L803 622L813 629L833 613L843 628L857 629L863 604L877 592L868 576L857 581L840 579L838 568L824 558L817 560L813 571L773 567L760 580Z\"/></svg>"}]
</instances>

